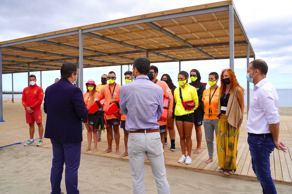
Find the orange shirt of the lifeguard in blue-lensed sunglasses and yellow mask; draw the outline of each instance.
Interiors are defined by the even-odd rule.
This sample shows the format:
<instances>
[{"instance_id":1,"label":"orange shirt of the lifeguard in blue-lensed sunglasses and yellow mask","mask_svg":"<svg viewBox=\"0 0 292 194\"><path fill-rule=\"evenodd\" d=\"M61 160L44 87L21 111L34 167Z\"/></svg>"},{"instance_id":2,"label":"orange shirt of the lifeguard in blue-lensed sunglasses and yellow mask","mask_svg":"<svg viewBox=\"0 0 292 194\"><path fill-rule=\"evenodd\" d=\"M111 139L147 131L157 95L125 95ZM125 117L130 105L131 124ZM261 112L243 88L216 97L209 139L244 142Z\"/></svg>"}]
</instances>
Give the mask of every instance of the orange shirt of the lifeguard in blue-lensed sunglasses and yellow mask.
<instances>
[{"instance_id":1,"label":"orange shirt of the lifeguard in blue-lensed sunglasses and yellow mask","mask_svg":"<svg viewBox=\"0 0 292 194\"><path fill-rule=\"evenodd\" d=\"M114 88L114 85L116 84L116 87ZM121 85L115 83L113 85L107 84L106 87L102 87L100 90L100 98L105 97L105 104L103 105L103 110L105 110L111 101L116 101L119 99L120 96L120 90ZM110 87L110 90L109 90ZM116 111L119 112L120 109ZM113 119L116 118L114 115L106 115L107 119Z\"/></svg>"}]
</instances>

